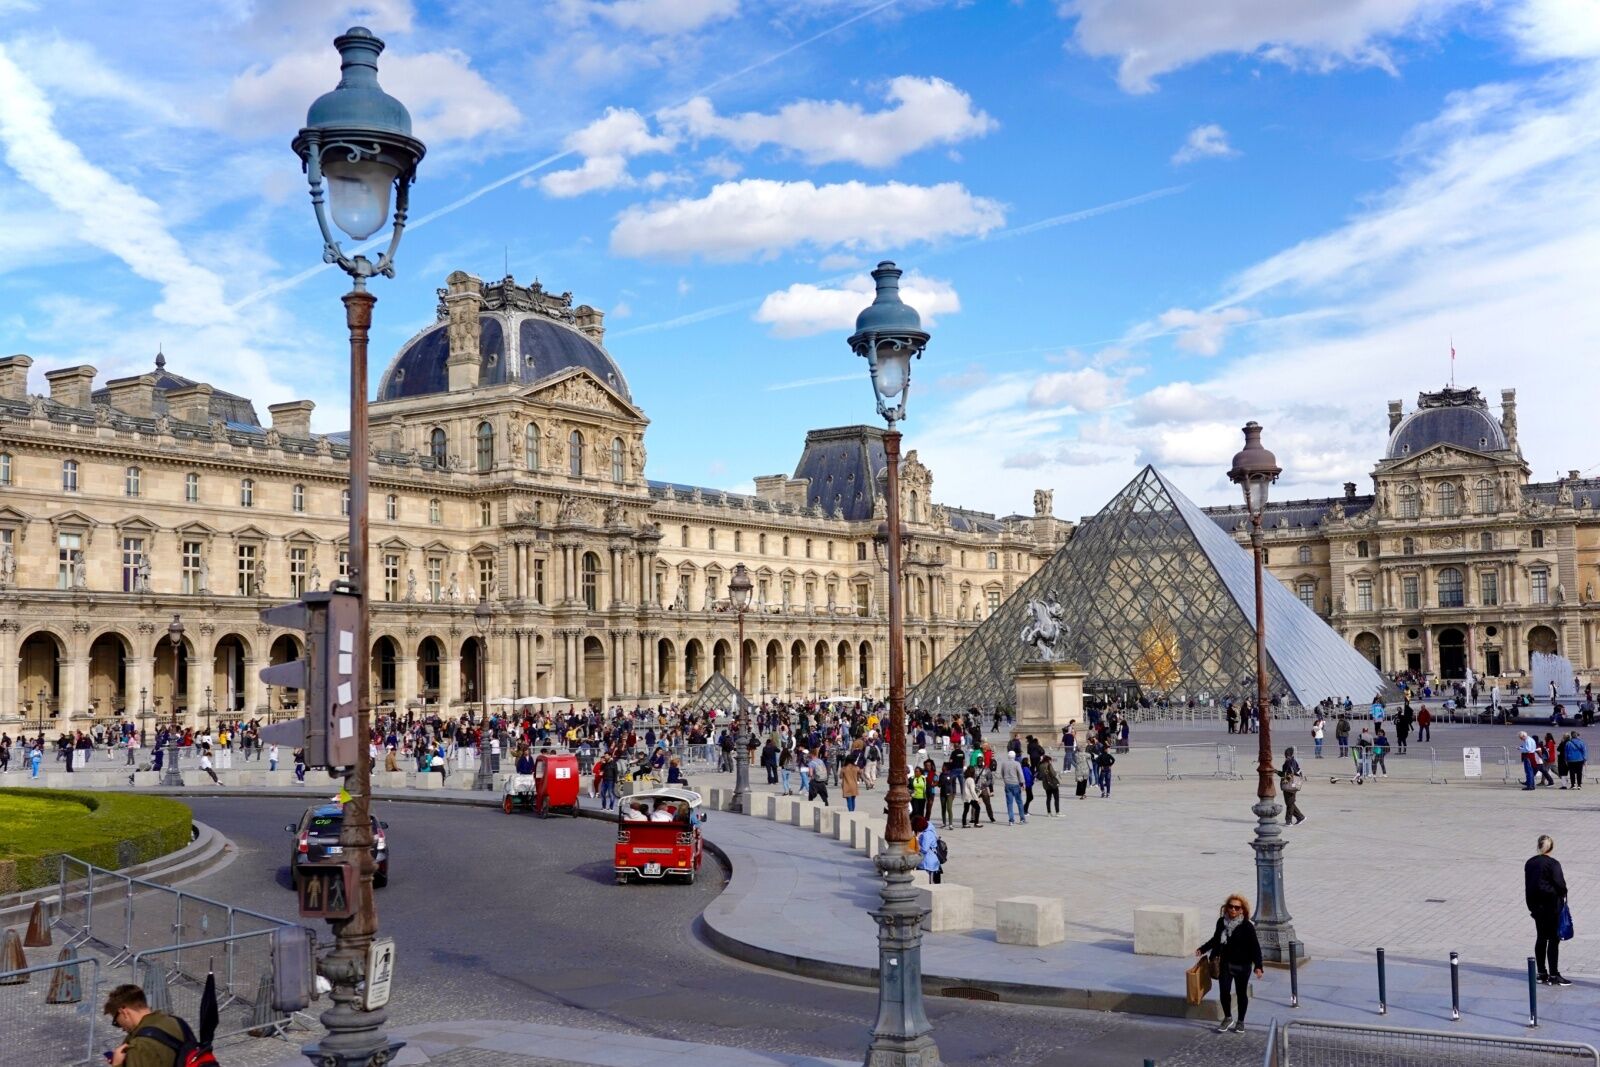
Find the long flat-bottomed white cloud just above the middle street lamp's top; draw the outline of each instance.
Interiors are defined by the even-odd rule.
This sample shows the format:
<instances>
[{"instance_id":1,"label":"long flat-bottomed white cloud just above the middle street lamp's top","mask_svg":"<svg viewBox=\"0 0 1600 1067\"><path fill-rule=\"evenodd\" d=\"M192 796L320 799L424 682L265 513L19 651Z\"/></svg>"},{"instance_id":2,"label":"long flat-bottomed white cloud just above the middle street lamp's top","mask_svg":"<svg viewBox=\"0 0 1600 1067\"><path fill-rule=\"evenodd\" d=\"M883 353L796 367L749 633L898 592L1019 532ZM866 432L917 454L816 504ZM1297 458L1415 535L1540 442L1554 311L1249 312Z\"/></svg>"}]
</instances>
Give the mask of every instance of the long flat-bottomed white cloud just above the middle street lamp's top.
<instances>
[{"instance_id":1,"label":"long flat-bottomed white cloud just above the middle street lamp's top","mask_svg":"<svg viewBox=\"0 0 1600 1067\"><path fill-rule=\"evenodd\" d=\"M736 261L802 245L886 250L979 237L1003 224L998 203L974 197L958 182L816 186L749 178L722 182L701 198L627 208L611 230L611 251Z\"/></svg>"}]
</instances>

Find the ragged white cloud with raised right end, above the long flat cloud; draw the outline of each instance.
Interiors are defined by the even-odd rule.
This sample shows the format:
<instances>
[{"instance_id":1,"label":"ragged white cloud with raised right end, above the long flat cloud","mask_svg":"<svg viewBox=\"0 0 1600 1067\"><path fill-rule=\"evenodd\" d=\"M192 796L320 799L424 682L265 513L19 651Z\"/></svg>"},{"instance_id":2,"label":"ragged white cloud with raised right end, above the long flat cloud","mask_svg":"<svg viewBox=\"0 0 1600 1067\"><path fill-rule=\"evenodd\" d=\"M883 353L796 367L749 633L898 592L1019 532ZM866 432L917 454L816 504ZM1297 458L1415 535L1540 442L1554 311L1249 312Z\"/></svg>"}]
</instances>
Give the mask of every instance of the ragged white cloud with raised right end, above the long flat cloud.
<instances>
[{"instance_id":1,"label":"ragged white cloud with raised right end, above the long flat cloud","mask_svg":"<svg viewBox=\"0 0 1600 1067\"><path fill-rule=\"evenodd\" d=\"M997 125L944 78L898 77L885 98L891 107L878 112L843 101L797 101L770 115L718 115L709 99L698 96L658 118L690 138L728 141L746 152L773 144L811 165L864 166L891 166L928 146L979 138Z\"/></svg>"}]
</instances>

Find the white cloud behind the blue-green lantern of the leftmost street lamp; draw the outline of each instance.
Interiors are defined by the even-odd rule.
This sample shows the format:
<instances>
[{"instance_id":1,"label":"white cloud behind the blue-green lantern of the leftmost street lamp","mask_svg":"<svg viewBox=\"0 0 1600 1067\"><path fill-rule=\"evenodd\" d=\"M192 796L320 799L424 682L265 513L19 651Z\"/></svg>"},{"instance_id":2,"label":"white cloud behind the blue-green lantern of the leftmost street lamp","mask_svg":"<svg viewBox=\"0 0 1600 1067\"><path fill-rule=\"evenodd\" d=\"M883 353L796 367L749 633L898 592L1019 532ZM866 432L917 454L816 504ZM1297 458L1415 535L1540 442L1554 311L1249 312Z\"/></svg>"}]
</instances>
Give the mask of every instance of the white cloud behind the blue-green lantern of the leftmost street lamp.
<instances>
[{"instance_id":1,"label":"white cloud behind the blue-green lantern of the leftmost street lamp","mask_svg":"<svg viewBox=\"0 0 1600 1067\"><path fill-rule=\"evenodd\" d=\"M280 136L298 130L310 101L338 80L339 54L326 43L290 53L234 78L218 123L245 136ZM522 120L517 106L454 50L411 56L386 51L379 80L405 101L416 136L429 147L509 130Z\"/></svg>"}]
</instances>

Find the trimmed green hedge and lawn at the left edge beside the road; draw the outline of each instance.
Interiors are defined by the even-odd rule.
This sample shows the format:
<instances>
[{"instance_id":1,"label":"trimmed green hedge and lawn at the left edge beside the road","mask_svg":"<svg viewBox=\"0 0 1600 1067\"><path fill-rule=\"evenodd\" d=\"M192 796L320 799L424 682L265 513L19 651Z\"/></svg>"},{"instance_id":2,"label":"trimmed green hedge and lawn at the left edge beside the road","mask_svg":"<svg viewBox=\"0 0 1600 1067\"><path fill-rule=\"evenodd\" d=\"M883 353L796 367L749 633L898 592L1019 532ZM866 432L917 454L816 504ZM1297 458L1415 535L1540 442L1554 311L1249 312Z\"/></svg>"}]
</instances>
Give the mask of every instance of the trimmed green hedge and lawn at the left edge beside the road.
<instances>
[{"instance_id":1,"label":"trimmed green hedge and lawn at the left edge beside the road","mask_svg":"<svg viewBox=\"0 0 1600 1067\"><path fill-rule=\"evenodd\" d=\"M0 789L0 894L56 881L62 853L110 870L166 856L192 821L166 797Z\"/></svg>"}]
</instances>

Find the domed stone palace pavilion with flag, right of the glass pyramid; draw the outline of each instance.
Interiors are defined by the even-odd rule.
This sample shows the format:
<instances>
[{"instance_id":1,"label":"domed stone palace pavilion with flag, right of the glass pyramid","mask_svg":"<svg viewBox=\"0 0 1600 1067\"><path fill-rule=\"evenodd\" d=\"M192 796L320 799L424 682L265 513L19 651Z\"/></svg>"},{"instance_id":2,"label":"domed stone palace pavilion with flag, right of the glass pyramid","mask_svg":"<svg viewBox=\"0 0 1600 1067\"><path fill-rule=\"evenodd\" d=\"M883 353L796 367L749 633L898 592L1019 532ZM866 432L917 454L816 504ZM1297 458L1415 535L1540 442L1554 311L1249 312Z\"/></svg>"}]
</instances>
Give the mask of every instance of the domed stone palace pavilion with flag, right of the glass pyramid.
<instances>
[{"instance_id":1,"label":"domed stone palace pavilion with flag, right of the glass pyramid","mask_svg":"<svg viewBox=\"0 0 1600 1067\"><path fill-rule=\"evenodd\" d=\"M1531 482L1517 392L1389 402L1373 491L1267 506L1267 566L1379 670L1528 683L1530 653L1600 675L1600 480ZM1243 506L1206 514L1248 545Z\"/></svg>"}]
</instances>

